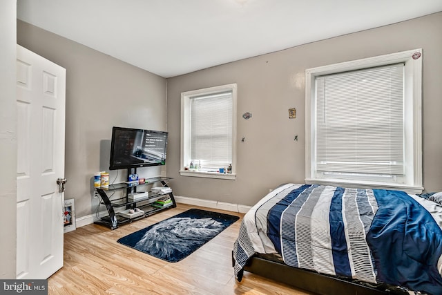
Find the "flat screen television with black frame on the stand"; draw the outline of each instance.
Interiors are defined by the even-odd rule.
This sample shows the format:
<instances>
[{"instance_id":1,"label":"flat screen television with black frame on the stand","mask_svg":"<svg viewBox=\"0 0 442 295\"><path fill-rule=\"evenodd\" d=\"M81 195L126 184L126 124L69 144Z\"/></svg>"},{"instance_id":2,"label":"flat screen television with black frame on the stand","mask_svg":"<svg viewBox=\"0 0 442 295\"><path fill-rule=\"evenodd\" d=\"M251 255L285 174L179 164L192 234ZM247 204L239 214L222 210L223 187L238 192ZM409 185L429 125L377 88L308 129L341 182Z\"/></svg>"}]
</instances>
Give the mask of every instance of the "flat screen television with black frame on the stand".
<instances>
[{"instance_id":1,"label":"flat screen television with black frame on the stand","mask_svg":"<svg viewBox=\"0 0 442 295\"><path fill-rule=\"evenodd\" d=\"M166 164L165 131L113 127L110 170Z\"/></svg>"}]
</instances>

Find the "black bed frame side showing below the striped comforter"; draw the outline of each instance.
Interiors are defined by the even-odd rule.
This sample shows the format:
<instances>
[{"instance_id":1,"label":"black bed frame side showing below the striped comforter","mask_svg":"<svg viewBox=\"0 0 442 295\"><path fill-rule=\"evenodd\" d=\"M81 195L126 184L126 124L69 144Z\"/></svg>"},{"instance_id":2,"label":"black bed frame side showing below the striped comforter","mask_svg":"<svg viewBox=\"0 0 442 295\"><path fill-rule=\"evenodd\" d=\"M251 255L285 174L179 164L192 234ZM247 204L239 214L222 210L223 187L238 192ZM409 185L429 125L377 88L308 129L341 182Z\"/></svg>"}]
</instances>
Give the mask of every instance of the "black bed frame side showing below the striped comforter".
<instances>
[{"instance_id":1,"label":"black bed frame side showing below the striped comforter","mask_svg":"<svg viewBox=\"0 0 442 295\"><path fill-rule=\"evenodd\" d=\"M257 274L279 283L291 285L298 289L304 289L307 292L325 295L379 295L379 294L397 294L408 295L405 290L388 285L369 286L361 283L354 283L351 280L336 278L311 272L305 269L289 267L283 263L267 260L258 256L253 256L244 266L244 271Z\"/></svg>"}]
</instances>

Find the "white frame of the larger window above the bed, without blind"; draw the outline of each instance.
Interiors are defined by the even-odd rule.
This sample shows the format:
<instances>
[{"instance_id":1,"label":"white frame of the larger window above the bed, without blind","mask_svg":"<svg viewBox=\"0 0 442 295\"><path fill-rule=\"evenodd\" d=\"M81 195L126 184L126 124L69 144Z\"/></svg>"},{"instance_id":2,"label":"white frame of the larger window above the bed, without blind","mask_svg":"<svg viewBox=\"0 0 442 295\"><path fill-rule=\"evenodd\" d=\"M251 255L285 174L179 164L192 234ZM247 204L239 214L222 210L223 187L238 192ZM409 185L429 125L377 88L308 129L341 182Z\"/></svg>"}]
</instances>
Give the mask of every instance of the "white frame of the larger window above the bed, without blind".
<instances>
[{"instance_id":1,"label":"white frame of the larger window above the bed, without blind","mask_svg":"<svg viewBox=\"0 0 442 295\"><path fill-rule=\"evenodd\" d=\"M416 55L417 53L417 55ZM419 55L419 56L418 56ZM422 187L422 49L369 57L339 64L307 68L305 70L305 182L346 187L372 187L375 189L401 189L408 193L421 193ZM376 182L364 180L342 180L318 178L316 161L316 83L317 76L361 70L389 64L405 64L404 75L404 120L405 183Z\"/></svg>"}]
</instances>

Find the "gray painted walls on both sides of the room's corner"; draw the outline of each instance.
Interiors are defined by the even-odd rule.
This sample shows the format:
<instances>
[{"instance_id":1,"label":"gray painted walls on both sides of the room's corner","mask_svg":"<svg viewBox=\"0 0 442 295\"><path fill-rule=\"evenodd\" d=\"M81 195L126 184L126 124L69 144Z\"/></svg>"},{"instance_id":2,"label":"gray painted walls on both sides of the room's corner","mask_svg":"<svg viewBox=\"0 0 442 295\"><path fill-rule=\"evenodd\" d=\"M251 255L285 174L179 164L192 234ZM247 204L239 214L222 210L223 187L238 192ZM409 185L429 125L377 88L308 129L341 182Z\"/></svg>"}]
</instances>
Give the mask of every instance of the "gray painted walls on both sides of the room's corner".
<instances>
[{"instance_id":1,"label":"gray painted walls on both sides of the room's corner","mask_svg":"<svg viewBox=\"0 0 442 295\"><path fill-rule=\"evenodd\" d=\"M304 182L305 69L413 48L423 48L423 184L442 191L441 31L442 12L167 80L21 21L17 43L67 70L66 198L75 198L81 217L95 209L90 181L108 169L118 125L169 131L167 175L177 196L252 205L280 183ZM230 83L238 84L237 179L181 177L180 93ZM164 175L155 169L142 173Z\"/></svg>"}]
</instances>

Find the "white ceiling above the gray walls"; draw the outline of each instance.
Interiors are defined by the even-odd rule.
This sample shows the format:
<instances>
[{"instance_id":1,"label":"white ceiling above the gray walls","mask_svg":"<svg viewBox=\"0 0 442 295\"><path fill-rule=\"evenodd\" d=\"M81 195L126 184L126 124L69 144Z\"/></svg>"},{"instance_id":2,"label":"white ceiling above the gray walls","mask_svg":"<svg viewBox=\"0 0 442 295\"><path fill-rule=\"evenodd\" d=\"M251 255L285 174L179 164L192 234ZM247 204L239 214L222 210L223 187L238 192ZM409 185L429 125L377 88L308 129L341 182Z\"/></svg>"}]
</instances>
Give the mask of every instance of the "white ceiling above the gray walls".
<instances>
[{"instance_id":1,"label":"white ceiling above the gray walls","mask_svg":"<svg viewBox=\"0 0 442 295\"><path fill-rule=\"evenodd\" d=\"M18 19L162 77L439 11L441 0L17 0Z\"/></svg>"}]
</instances>

